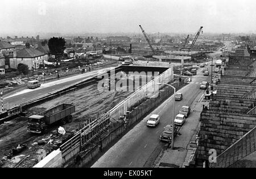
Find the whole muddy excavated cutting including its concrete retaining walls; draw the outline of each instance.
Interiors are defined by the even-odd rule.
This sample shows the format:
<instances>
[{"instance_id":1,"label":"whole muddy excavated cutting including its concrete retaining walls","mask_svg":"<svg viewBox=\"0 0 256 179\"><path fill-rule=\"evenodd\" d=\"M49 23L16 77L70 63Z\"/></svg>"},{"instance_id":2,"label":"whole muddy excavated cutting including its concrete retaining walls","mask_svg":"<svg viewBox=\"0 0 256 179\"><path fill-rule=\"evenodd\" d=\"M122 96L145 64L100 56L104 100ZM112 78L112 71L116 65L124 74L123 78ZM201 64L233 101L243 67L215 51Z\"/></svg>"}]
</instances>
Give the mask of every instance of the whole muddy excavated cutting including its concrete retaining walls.
<instances>
[{"instance_id":1,"label":"whole muddy excavated cutting including its concrete retaining walls","mask_svg":"<svg viewBox=\"0 0 256 179\"><path fill-rule=\"evenodd\" d=\"M145 75L144 73L135 73L133 76L129 76L129 78L125 78L125 76L116 76L116 73L118 72L121 72L121 74L127 73L128 75L129 72L144 72L145 70L147 72L151 72L148 76L146 74L146 77L143 76ZM157 74L159 76L152 76L152 72L155 72L155 70L158 72ZM32 103L27 104L27 107L22 106L23 110L19 111L19 114L23 116L18 116L18 118L14 118L12 120L6 119L6 122L3 122L0 126L0 157L9 159L4 163L1 163L2 167L34 166L49 153L59 147L61 148L61 145L66 141L68 142L71 140L70 138L73 138L74 135L76 136L77 132L80 134L81 131L86 131L88 125L93 126L96 121L100 121L100 119L103 118L102 116L105 116L102 120L108 120L107 126L104 126L104 131L108 134L108 126L111 126L112 128L115 128L115 126L123 126L122 119L123 114L125 114L125 108L128 111L131 107L138 106L144 100L156 94L155 90L150 90L154 79L165 82L174 81L171 68L153 68L150 66L121 66L115 68L113 74L110 70L109 72L101 75L107 75L109 76L109 79L114 78L114 86L121 80L121 84L123 84L121 85L122 89L128 89L129 85L131 85L133 90L122 90L120 92L115 88L114 90L109 90L110 86L106 87L108 82L105 82L105 84L103 82L104 91L100 92L98 90L98 82L101 80L100 77L102 78L102 76L96 76L89 80L72 84L68 87L69 90L66 90L63 94L56 92L57 95L54 95L51 98L39 99L36 101L36 105L32 105L33 102L31 101ZM134 86L135 81L137 82L136 87ZM145 88L144 91L142 86ZM127 102L127 99L132 101L123 104L124 101ZM41 104L39 105L39 103ZM26 116L42 113L43 111L51 109L53 106L57 106L62 103L72 104L76 107L75 113L72 114L73 120L71 123L57 123L49 127L48 131L43 135L36 135L27 132ZM118 104L119 106L125 105L125 107L120 108ZM114 110L115 112L110 112L111 110ZM97 126L97 124L94 125ZM65 135L60 135L57 132L57 128L59 126L65 129ZM101 128L97 128L97 130L101 130ZM92 138L91 136L92 141L88 144L94 147L97 146L96 144L99 140L98 136L100 136L101 132L102 131L97 131L97 138ZM81 147L81 144L78 146ZM16 152L19 153L19 155L16 155L15 153L15 151L18 151L18 149L15 150L17 147L22 148L22 150L20 150L21 152ZM76 147L76 145L73 145L73 147ZM86 150L88 150L88 147L85 147L85 151Z\"/></svg>"}]
</instances>

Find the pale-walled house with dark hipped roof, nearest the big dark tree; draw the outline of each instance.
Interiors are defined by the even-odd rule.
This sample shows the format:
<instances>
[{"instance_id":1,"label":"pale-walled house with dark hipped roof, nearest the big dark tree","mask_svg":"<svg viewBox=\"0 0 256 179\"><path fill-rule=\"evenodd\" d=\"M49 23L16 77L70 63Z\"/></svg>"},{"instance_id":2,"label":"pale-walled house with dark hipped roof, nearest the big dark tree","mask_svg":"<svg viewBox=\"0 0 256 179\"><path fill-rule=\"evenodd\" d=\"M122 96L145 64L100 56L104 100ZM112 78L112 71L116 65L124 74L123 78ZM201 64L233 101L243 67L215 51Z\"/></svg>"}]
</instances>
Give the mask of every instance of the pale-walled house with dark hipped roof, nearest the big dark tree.
<instances>
[{"instance_id":1,"label":"pale-walled house with dark hipped roof, nearest the big dark tree","mask_svg":"<svg viewBox=\"0 0 256 179\"><path fill-rule=\"evenodd\" d=\"M30 43L26 44L26 48L15 51L13 57L10 58L10 68L17 69L18 64L27 64L29 69L38 69L43 64L45 55L37 49L31 48Z\"/></svg>"}]
</instances>

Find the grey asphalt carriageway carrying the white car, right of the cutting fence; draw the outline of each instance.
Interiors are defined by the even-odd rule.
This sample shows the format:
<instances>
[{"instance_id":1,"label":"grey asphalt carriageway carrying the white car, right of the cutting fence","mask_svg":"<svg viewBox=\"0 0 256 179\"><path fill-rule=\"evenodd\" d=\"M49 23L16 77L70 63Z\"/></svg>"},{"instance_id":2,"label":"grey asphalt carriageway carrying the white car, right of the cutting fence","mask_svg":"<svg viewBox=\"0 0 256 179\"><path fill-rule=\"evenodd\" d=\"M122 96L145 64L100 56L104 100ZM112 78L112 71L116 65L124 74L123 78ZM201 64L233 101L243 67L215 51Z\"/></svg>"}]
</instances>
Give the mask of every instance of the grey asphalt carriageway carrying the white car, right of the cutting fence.
<instances>
[{"instance_id":1,"label":"grey asphalt carriageway carrying the white car, right of the cutting fence","mask_svg":"<svg viewBox=\"0 0 256 179\"><path fill-rule=\"evenodd\" d=\"M208 65L208 68L210 66ZM182 106L193 106L196 98L203 97L205 90L199 89L201 81L210 81L209 76L203 76L202 68L197 71L197 75L192 77L191 84L188 84L179 92L183 93L183 99L175 102L175 115L179 113ZM172 96L173 97L173 96ZM112 148L110 148L100 159L93 164L92 167L102 168L142 168L152 167L159 153L167 148L167 143L159 140L163 127L171 123L172 109L174 106L173 98L170 97L162 105L160 105L151 114L146 116L132 130L130 130L122 139L120 139ZM193 110L193 108L192 108ZM192 112L193 113L193 112ZM147 119L152 114L160 115L160 123L155 128L146 126ZM187 120L193 121L192 117ZM195 121L197 122L197 121ZM186 126L187 125L187 126ZM185 126L189 130L189 125L195 126L193 122L185 122ZM192 127L191 127L192 128ZM183 131L191 133L191 131ZM183 140L183 135L178 139ZM176 140L175 140L176 142Z\"/></svg>"}]
</instances>

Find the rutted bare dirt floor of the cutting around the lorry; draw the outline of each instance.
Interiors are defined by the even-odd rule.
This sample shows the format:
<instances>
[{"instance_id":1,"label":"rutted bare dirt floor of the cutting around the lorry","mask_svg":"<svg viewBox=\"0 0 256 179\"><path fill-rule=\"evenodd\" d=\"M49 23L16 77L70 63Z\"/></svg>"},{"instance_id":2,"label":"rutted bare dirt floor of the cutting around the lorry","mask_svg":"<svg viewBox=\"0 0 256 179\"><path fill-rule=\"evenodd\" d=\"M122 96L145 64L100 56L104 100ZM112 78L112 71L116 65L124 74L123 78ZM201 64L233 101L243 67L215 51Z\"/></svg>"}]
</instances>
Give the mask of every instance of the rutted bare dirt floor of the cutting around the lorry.
<instances>
[{"instance_id":1,"label":"rutted bare dirt floor of the cutting around the lorry","mask_svg":"<svg viewBox=\"0 0 256 179\"><path fill-rule=\"evenodd\" d=\"M85 126L88 119L96 119L99 115L106 113L112 109L123 99L127 98L134 91L103 91L97 89L97 84L87 86L86 88L73 91L62 95L61 97L52 99L42 105L32 107L28 110L28 115L38 114L51 107L60 105L61 103L69 103L76 106L76 112L73 114L71 123L61 126L67 132L64 136L56 134L60 124L56 123L49 127L44 135L35 135L27 132L27 119L16 118L10 122L0 125L0 167L32 167L40 160L40 157L48 155L53 149L59 147L61 141L79 128ZM38 145L38 141L46 141L44 145ZM18 144L26 144L27 148L20 152L18 156L14 156L11 160L6 159L11 148L17 147Z\"/></svg>"}]
</instances>

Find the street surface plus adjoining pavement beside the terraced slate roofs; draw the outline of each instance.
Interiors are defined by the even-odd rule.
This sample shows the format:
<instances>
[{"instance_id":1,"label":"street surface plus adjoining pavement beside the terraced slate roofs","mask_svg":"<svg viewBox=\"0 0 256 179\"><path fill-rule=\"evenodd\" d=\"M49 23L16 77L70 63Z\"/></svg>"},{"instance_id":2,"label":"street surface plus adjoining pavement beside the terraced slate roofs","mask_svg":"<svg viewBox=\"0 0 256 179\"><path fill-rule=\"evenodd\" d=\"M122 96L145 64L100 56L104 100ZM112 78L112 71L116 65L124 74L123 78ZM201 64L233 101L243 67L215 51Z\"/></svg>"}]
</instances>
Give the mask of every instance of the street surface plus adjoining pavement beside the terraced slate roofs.
<instances>
[{"instance_id":1,"label":"street surface plus adjoining pavement beside the terraced slate roofs","mask_svg":"<svg viewBox=\"0 0 256 179\"><path fill-rule=\"evenodd\" d=\"M191 140L193 130L199 123L199 116L203 94L205 90L200 90L201 81L210 81L210 76L203 76L202 69L199 69L196 76L192 77L192 82L177 92L183 93L183 99L175 102L175 115L179 113L182 106L192 106L192 113L187 118L183 127L180 129L180 135L175 138L174 151L169 151L168 144L159 140L163 127L171 123L172 109L174 107L173 95L142 119L134 128L124 135L117 143L113 145L104 155L92 165L93 168L142 168L154 167L159 164L169 163L168 167L180 167L187 154L186 147ZM196 106L196 103L200 103ZM200 106L201 105L201 106ZM147 119L152 114L160 115L160 123L155 128L146 126ZM166 152L164 152L166 151ZM164 153L164 157L161 156Z\"/></svg>"}]
</instances>

